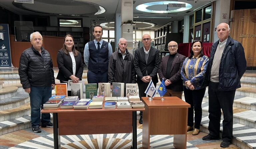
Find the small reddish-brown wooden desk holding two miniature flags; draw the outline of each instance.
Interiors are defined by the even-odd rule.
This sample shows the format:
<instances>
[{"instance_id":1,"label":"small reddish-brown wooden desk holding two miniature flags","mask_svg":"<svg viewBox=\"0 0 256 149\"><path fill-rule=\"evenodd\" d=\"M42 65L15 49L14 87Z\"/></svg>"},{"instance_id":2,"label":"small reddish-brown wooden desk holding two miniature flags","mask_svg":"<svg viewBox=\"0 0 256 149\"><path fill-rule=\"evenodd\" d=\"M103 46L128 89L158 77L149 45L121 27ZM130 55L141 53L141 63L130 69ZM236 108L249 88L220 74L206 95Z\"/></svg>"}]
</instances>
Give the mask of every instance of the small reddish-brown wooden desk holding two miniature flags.
<instances>
[{"instance_id":1,"label":"small reddish-brown wooden desk holding two miniature flags","mask_svg":"<svg viewBox=\"0 0 256 149\"><path fill-rule=\"evenodd\" d=\"M177 149L187 147L187 121L190 104L178 97L155 97L145 103L143 112L142 148L150 148L150 135L174 135L173 145Z\"/></svg>"}]
</instances>

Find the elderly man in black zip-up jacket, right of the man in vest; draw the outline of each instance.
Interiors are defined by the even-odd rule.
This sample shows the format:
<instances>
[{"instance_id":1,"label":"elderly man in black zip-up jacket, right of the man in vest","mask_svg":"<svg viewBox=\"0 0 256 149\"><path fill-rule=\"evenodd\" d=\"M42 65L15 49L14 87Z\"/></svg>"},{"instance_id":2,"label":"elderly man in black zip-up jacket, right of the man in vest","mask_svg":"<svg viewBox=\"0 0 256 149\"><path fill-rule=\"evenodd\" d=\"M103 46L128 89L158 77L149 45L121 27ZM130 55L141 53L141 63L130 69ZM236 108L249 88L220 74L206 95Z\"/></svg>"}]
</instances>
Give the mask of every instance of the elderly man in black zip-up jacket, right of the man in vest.
<instances>
[{"instance_id":1,"label":"elderly man in black zip-up jacket, right of the man in vest","mask_svg":"<svg viewBox=\"0 0 256 149\"><path fill-rule=\"evenodd\" d=\"M136 83L134 59L133 55L126 49L127 40L120 38L117 45L118 49L112 53L108 64L108 83L111 83L111 88L113 82Z\"/></svg>"}]
</instances>

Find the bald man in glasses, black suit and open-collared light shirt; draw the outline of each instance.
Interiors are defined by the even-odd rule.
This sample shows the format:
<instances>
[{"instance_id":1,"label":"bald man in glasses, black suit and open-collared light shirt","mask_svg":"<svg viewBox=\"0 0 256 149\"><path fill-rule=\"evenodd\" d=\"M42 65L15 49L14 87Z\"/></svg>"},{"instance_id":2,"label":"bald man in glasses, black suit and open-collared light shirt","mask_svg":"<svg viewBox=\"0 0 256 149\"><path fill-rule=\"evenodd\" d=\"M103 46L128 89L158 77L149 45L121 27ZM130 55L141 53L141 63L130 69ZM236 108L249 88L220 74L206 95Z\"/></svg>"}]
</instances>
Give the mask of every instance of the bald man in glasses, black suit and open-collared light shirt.
<instances>
[{"instance_id":1,"label":"bald man in glasses, black suit and open-collared light shirt","mask_svg":"<svg viewBox=\"0 0 256 149\"><path fill-rule=\"evenodd\" d=\"M137 83L139 87L139 96L146 97L144 93L150 79L156 86L158 82L157 72L160 65L159 52L156 48L151 47L151 37L148 34L142 36L143 47L135 50L134 53L134 67L137 73ZM142 111L140 113L139 123L142 124Z\"/></svg>"}]
</instances>

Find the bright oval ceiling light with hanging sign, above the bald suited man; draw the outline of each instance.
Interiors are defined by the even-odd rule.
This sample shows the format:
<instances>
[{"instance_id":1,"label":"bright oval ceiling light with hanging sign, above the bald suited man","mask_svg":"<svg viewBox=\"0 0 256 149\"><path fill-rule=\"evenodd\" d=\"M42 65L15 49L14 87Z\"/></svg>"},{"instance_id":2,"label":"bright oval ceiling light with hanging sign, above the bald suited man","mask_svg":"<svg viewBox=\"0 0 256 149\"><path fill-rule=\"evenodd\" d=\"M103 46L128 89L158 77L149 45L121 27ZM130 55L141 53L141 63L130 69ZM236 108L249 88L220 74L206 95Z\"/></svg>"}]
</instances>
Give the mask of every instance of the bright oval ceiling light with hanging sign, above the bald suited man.
<instances>
[{"instance_id":1,"label":"bright oval ceiling light with hanging sign, above the bald suited man","mask_svg":"<svg viewBox=\"0 0 256 149\"><path fill-rule=\"evenodd\" d=\"M185 4L185 7L168 7L168 4ZM166 7L167 6L167 7ZM166 9L167 8L167 9ZM149 12L149 13L173 13L186 11L192 8L191 4L184 2L175 2L175 1L161 1L161 2L150 2L141 4L136 7L139 11Z\"/></svg>"}]
</instances>

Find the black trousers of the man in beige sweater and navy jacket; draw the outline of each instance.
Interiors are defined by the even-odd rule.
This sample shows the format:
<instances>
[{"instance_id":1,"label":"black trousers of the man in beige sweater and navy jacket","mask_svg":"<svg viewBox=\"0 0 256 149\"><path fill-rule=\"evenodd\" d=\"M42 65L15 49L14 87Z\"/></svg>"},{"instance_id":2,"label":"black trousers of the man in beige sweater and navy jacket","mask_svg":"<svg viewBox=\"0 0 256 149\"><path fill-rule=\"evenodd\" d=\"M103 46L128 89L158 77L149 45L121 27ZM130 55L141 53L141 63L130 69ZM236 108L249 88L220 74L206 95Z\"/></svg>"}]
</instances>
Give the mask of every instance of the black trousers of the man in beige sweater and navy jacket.
<instances>
[{"instance_id":1,"label":"black trousers of the man in beige sweater and navy jacket","mask_svg":"<svg viewBox=\"0 0 256 149\"><path fill-rule=\"evenodd\" d=\"M233 102L236 90L220 91L219 83L211 82L208 87L209 94L209 134L213 137L220 136L221 109L223 112L223 141L232 141L233 136Z\"/></svg>"}]
</instances>

